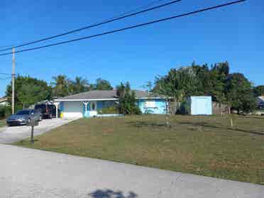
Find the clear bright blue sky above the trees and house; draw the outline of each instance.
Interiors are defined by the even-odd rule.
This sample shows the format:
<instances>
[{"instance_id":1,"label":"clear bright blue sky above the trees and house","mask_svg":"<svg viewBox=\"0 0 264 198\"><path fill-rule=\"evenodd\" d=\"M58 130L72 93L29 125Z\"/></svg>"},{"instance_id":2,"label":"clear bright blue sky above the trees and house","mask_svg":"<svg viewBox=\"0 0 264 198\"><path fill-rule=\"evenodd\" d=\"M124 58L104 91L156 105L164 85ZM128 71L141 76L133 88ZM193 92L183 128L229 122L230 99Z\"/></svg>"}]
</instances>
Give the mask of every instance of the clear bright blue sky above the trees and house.
<instances>
[{"instance_id":1,"label":"clear bright blue sky above the trees and house","mask_svg":"<svg viewBox=\"0 0 264 198\"><path fill-rule=\"evenodd\" d=\"M0 47L62 33L104 21L151 0L33 1L3 0L0 6ZM162 1L167 2L167 1ZM109 23L46 42L78 38L177 15L228 1L182 0L148 14ZM131 82L134 89L172 67L228 61L231 72L243 72L255 85L264 84L264 3L246 1L195 16L122 33L16 55L16 73L50 82L55 75L98 77L113 84ZM43 45L38 43L34 47ZM27 47L25 47L27 48ZM21 48L22 49L22 48ZM0 72L11 73L11 55L0 57ZM6 77L0 75L0 78ZM10 80L0 80L0 96Z\"/></svg>"}]
</instances>

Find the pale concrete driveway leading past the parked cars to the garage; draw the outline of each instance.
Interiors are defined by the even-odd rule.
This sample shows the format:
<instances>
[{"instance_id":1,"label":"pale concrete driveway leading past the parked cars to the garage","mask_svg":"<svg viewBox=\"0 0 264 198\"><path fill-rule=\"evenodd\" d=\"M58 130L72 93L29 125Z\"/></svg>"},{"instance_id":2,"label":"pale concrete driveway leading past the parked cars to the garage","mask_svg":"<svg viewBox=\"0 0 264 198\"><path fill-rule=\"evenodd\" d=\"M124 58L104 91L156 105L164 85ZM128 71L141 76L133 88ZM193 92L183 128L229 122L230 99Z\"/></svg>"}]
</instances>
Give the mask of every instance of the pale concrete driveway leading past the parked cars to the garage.
<instances>
[{"instance_id":1,"label":"pale concrete driveway leading past the parked cars to the garage","mask_svg":"<svg viewBox=\"0 0 264 198\"><path fill-rule=\"evenodd\" d=\"M39 126L35 126L34 135L50 131L50 129L62 126L75 119L44 119L40 121ZM10 126L0 128L0 143L14 143L31 136L30 126Z\"/></svg>"}]
</instances>

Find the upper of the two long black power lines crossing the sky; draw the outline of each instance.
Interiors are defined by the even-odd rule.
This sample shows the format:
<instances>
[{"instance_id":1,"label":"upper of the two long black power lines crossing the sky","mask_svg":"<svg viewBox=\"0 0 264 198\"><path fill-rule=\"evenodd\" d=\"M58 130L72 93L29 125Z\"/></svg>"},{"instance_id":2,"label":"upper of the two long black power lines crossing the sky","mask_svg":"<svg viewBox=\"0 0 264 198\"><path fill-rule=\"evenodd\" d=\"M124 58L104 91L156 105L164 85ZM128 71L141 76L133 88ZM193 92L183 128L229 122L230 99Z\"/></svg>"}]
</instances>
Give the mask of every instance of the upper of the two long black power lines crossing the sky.
<instances>
[{"instance_id":1,"label":"upper of the two long black power lines crossing the sky","mask_svg":"<svg viewBox=\"0 0 264 198\"><path fill-rule=\"evenodd\" d=\"M159 1L161 1L161 0L159 0ZM34 43L40 43L40 42L45 41L45 40L50 40L50 39L57 38L57 37L60 37L60 36L63 36L63 35L68 35L68 34L71 34L71 33L76 33L76 32L83 31L83 30L89 29L89 28L94 28L94 27L97 27L97 26L104 25L106 23L111 23L111 22L114 22L114 21L119 21L119 20L121 20L123 18L128 18L130 16L136 16L136 15L138 15L140 13L145 13L147 11L153 11L155 9L160 9L162 7L169 6L171 4L176 4L177 2L180 2L180 1L182 1L182 0L170 1L170 2L168 2L166 4L161 4L159 6L155 6L155 7L149 8L149 9L145 9L143 11L137 11L137 12L134 12L134 13L130 13L131 11L129 11L128 14L126 14L124 16L122 14L121 16L118 16L117 18L110 18L110 19L108 19L106 21L102 21L100 23L94 23L92 25L85 26L85 27L79 28L79 29L75 29L73 31L68 31L66 33L61 33L61 34L58 34L58 35L53 35L53 36L50 36L50 37L47 37L47 38L42 38L40 40L34 40L34 41L31 41L31 42L28 42L28 43L23 43L21 45L16 45L16 46L13 46L11 48L5 48L3 50L0 50L0 52L6 51L6 50L11 50L12 48L21 48L21 47L26 46L26 45L31 45L31 44L34 44ZM151 3L149 5L152 5L152 4L156 3L156 2L158 2L158 1L153 1L153 3Z\"/></svg>"}]
</instances>

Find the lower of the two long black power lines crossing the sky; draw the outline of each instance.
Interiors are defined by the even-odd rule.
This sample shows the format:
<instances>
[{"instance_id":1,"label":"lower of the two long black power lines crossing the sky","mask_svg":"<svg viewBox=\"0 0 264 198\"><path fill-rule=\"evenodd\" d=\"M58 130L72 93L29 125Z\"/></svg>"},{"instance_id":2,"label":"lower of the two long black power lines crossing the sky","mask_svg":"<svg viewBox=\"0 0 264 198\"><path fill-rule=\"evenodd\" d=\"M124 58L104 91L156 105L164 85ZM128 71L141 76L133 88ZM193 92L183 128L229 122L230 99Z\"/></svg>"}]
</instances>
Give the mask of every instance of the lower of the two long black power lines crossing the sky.
<instances>
[{"instance_id":1,"label":"lower of the two long black power lines crossing the sky","mask_svg":"<svg viewBox=\"0 0 264 198\"><path fill-rule=\"evenodd\" d=\"M211 6L211 7L205 8L205 9L199 9L197 11L191 11L191 12L188 12L188 13L182 13L180 15L170 16L170 17L167 17L167 18L162 18L162 19L159 19L159 20L150 21L148 23L140 23L140 24L135 25L135 26L128 26L126 28L120 28L120 29L117 29L117 30L114 30L114 31L107 31L107 32L104 32L104 33L99 33L99 34L95 34L95 35L89 35L89 36L86 36L86 37L76 38L76 39L73 39L73 40L66 40L66 41L62 41L62 42L59 42L59 43L53 43L53 44L50 44L50 45L43 45L43 46L39 46L39 47L36 47L36 48L28 48L28 49L25 49L25 50L18 50L18 51L16 51L16 53L23 53L23 52L26 52L26 51L38 50L38 49L41 49L41 48L48 48L48 47L55 46L55 45L62 45L62 44L65 44L65 43L72 43L72 42L75 42L75 41L78 41L78 40L95 38L95 37L99 37L101 35L107 35L107 34L111 34L111 33L117 33L117 32L121 32L121 31L126 31L126 30L132 29L132 28L148 26L148 25L153 24L153 23L160 23L160 22L163 22L163 21L169 21L169 20L172 20L174 18L180 18L182 16L189 16L189 15L193 15L193 14L204 12L204 11L209 11L209 10L213 10L213 9L219 9L221 7L224 7L224 6L230 6L232 4L238 4L238 3L241 3L243 1L246 1L246 0L232 1L232 2L229 2L229 3L226 3L226 4L220 4L220 5ZM2 55L10 55L10 54L12 54L12 53L3 53L3 54L0 54L0 56L2 56Z\"/></svg>"}]
</instances>

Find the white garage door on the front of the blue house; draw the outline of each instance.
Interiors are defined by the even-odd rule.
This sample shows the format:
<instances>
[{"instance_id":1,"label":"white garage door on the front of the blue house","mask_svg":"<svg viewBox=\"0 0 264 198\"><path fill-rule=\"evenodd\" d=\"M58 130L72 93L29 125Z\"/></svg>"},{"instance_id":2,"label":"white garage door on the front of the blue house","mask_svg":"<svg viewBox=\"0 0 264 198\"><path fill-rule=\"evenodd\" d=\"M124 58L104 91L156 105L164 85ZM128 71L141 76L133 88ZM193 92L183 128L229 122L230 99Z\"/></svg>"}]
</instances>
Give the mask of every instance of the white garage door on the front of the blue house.
<instances>
[{"instance_id":1,"label":"white garage door on the front of the blue house","mask_svg":"<svg viewBox=\"0 0 264 198\"><path fill-rule=\"evenodd\" d=\"M81 101L65 101L64 102L64 118L82 118L83 104Z\"/></svg>"}]
</instances>

